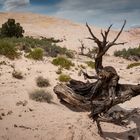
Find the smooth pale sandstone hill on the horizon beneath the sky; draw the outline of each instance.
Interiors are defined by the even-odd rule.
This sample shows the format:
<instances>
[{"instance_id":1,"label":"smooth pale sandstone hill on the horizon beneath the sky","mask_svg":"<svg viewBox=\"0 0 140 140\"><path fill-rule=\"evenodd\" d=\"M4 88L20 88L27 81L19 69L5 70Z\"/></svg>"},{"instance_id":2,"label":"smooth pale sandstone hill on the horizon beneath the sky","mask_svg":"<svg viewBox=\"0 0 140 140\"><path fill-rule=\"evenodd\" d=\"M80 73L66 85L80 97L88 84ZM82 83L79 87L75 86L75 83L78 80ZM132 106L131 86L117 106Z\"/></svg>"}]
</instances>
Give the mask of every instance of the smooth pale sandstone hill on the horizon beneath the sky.
<instances>
[{"instance_id":1,"label":"smooth pale sandstone hill on the horizon beneath the sky","mask_svg":"<svg viewBox=\"0 0 140 140\"><path fill-rule=\"evenodd\" d=\"M78 50L78 47L80 47L79 39L83 40L85 46L88 48L95 46L93 41L86 39L90 34L84 24L33 13L0 13L0 25L7 21L8 18L14 18L17 22L20 22L25 29L25 35L63 39L65 41L60 43L60 45L73 50ZM95 26L91 27L95 35L101 38L101 29ZM117 30L110 32L110 41L113 40L117 32ZM111 48L109 53L112 53L116 49L122 49L123 47L136 47L140 43L140 28L133 28L123 32L118 41L128 43L125 46Z\"/></svg>"}]
</instances>

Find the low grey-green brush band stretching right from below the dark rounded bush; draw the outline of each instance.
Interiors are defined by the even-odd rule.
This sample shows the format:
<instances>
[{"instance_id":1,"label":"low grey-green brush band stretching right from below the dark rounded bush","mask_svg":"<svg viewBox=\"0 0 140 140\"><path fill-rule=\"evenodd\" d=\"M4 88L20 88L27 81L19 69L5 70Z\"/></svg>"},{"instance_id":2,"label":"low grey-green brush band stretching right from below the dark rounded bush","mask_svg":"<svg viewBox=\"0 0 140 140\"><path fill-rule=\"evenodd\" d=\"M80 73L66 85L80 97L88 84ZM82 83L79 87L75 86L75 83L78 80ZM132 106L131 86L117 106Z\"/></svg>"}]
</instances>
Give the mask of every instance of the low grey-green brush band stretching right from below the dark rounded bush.
<instances>
[{"instance_id":1,"label":"low grey-green brush band stretching right from below the dark rounded bush","mask_svg":"<svg viewBox=\"0 0 140 140\"><path fill-rule=\"evenodd\" d=\"M66 48L62 48L58 46L56 43L58 40L50 39L50 38L33 38L33 37L22 37L22 38L1 38L1 40L5 40L6 42L12 42L18 46L19 50L25 51L26 53L30 53L34 48L42 48L44 50L44 55L57 57L58 55L65 54L69 58L74 57L74 53L71 50Z\"/></svg>"}]
</instances>

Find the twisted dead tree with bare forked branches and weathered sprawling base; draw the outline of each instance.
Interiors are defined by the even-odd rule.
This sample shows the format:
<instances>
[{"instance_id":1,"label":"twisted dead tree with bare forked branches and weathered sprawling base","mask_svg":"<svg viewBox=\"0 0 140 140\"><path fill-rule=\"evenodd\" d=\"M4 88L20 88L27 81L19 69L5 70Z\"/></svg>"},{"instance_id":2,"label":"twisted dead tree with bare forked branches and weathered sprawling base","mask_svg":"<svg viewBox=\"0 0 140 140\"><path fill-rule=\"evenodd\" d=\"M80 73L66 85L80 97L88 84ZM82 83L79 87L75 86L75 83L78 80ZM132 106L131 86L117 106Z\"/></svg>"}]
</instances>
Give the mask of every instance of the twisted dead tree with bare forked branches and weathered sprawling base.
<instances>
[{"instance_id":1,"label":"twisted dead tree with bare forked branches and weathered sprawling base","mask_svg":"<svg viewBox=\"0 0 140 140\"><path fill-rule=\"evenodd\" d=\"M112 25L104 32L101 30L101 41L94 35L90 26L86 24L91 35L88 39L93 40L98 46L98 52L95 57L97 76L89 76L87 73L83 74L87 78L94 78L97 79L97 81L94 83L84 83L72 79L67 85L60 84L54 87L54 92L61 101L63 100L75 108L91 111L90 117L96 121L100 134L102 134L101 121L122 125L123 120L133 114L132 112L124 113L123 117L120 115L119 118L115 118L109 114L110 108L140 95L140 85L119 84L119 76L116 70L111 66L103 67L102 64L103 56L110 47L114 45L124 45L126 43L116 43L125 24L126 21L124 21L123 26L112 42L108 41L108 35ZM114 97L112 95L114 95Z\"/></svg>"}]
</instances>

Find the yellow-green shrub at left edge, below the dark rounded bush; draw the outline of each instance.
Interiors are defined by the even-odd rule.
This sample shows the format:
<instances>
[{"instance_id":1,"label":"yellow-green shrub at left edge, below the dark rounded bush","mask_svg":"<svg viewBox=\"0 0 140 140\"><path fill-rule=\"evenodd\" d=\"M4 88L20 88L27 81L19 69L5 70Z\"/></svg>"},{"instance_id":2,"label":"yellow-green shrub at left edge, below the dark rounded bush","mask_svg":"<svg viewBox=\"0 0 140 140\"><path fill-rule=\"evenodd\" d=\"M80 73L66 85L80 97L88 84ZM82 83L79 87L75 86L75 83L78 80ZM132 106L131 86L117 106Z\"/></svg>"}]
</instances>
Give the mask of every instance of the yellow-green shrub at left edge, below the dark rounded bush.
<instances>
[{"instance_id":1,"label":"yellow-green shrub at left edge, below the dark rounded bush","mask_svg":"<svg viewBox=\"0 0 140 140\"><path fill-rule=\"evenodd\" d=\"M19 57L17 48L12 42L7 42L6 40L0 40L0 54L8 57L9 59L15 59Z\"/></svg>"}]
</instances>

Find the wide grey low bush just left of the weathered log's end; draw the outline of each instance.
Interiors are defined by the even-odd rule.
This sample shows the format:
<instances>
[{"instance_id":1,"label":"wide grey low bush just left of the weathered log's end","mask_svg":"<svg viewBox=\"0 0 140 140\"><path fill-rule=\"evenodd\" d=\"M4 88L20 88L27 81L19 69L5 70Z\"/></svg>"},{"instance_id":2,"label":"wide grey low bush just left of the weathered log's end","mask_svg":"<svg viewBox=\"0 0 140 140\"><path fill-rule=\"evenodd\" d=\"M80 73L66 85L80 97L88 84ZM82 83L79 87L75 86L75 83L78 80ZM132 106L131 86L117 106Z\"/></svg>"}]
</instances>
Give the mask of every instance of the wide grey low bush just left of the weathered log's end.
<instances>
[{"instance_id":1,"label":"wide grey low bush just left of the weathered log's end","mask_svg":"<svg viewBox=\"0 0 140 140\"><path fill-rule=\"evenodd\" d=\"M29 98L37 102L51 103L53 96L48 91L37 89L29 93Z\"/></svg>"}]
</instances>

